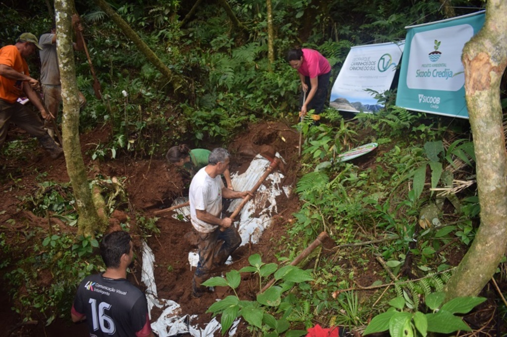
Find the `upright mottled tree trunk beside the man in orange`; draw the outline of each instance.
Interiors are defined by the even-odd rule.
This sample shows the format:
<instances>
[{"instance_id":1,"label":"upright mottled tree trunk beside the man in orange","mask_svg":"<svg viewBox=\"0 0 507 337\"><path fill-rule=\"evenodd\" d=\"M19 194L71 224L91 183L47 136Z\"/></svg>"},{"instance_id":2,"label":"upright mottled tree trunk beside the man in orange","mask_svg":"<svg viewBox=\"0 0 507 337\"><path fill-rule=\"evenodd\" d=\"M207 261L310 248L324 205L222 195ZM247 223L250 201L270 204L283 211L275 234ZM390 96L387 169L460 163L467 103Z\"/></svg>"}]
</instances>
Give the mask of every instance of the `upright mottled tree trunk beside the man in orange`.
<instances>
[{"instance_id":1,"label":"upright mottled tree trunk beside the man in orange","mask_svg":"<svg viewBox=\"0 0 507 337\"><path fill-rule=\"evenodd\" d=\"M86 177L85 164L81 155L79 142L79 98L73 93L78 93L76 82L76 69L74 64L74 49L72 43L71 17L74 4L72 1L55 0L57 54L60 68L60 80L62 86L62 134L63 151L67 173L70 178L76 198L78 209L79 234L94 236L95 232L105 229L104 223L97 214L93 204L88 179Z\"/></svg>"}]
</instances>

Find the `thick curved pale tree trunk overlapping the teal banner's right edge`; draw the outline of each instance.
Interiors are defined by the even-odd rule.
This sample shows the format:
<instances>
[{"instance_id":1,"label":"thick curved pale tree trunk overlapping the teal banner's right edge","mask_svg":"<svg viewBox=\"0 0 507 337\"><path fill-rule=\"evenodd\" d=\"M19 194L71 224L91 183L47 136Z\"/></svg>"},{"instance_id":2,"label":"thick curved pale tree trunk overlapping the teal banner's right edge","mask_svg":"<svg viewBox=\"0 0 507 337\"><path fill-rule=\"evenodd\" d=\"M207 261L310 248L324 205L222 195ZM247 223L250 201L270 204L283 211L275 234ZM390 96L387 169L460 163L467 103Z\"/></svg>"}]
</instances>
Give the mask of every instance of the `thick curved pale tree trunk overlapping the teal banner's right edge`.
<instances>
[{"instance_id":1,"label":"thick curved pale tree trunk overlapping the teal banner's right edge","mask_svg":"<svg viewBox=\"0 0 507 337\"><path fill-rule=\"evenodd\" d=\"M481 31L463 48L465 96L474 135L481 225L449 280L446 301L477 296L505 254L507 155L502 130L500 80L507 64L507 2L490 0Z\"/></svg>"}]
</instances>

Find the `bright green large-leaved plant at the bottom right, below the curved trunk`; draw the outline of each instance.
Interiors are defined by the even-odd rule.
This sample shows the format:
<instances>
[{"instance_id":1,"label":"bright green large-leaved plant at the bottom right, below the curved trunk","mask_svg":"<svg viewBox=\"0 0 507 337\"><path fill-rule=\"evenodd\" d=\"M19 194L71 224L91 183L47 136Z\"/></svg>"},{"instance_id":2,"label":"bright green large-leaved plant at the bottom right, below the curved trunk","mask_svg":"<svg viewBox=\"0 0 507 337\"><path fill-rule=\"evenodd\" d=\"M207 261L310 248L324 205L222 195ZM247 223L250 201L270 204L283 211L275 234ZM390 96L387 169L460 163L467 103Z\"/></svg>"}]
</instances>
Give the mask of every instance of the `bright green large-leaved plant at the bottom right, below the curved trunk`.
<instances>
[{"instance_id":1,"label":"bright green large-leaved plant at the bottom right, below the curved trunk","mask_svg":"<svg viewBox=\"0 0 507 337\"><path fill-rule=\"evenodd\" d=\"M391 336L426 336L428 332L452 333L457 330L470 331L470 327L455 314L466 314L486 299L480 297L458 297L442 304L445 295L433 292L425 297L431 312L406 312L405 300L397 297L389 302L391 308L375 316L363 334L389 330ZM440 308L440 309L439 309Z\"/></svg>"}]
</instances>

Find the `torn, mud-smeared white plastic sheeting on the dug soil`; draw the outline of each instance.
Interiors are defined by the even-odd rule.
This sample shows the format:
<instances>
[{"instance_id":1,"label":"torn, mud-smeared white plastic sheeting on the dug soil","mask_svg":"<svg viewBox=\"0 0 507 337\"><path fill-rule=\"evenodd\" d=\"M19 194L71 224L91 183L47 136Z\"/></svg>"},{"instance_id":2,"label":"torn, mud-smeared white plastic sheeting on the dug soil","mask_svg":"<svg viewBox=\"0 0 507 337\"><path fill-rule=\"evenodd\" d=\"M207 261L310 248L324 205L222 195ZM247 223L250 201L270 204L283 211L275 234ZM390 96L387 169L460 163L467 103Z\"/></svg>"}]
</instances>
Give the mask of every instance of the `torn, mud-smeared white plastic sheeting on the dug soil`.
<instances>
[{"instance_id":1,"label":"torn, mud-smeared white plastic sheeting on the dug soil","mask_svg":"<svg viewBox=\"0 0 507 337\"><path fill-rule=\"evenodd\" d=\"M277 153L277 157L280 160L283 158ZM252 187L262 177L270 161L257 155L250 163L250 166L245 173L241 175L232 174L232 185L236 191L251 190ZM244 205L239 218L235 222L238 226L239 234L241 235L241 245L248 242L257 243L262 235L262 232L271 225L271 218L277 213L276 197L284 193L287 197L291 193L291 188L288 186L282 186L284 176L277 170L266 178L264 184L262 184L257 190L256 194ZM178 198L174 201L174 204L185 202L185 199ZM229 213L234 212L237 208L241 199L235 199L231 202L227 211ZM176 210L174 218L189 221L190 207L182 207ZM230 258L229 258L230 259ZM197 251L191 251L189 253L189 268L197 266L198 255ZM160 337L174 336L179 333L189 333L192 336L211 336L215 331L221 329L220 323L213 318L204 329L192 325L192 320L197 316L192 313L182 313L182 310L174 301L159 299L157 296L157 285L155 284L155 277L153 274L153 266L155 263L155 257L152 250L143 242L142 244L142 271L141 281L148 287L146 290L146 297L148 300L148 309L150 311L153 307L164 308L160 317L151 324L152 329L159 334ZM189 286L191 284L189 280ZM239 320L236 320L229 331L229 336L232 336L236 332L236 327Z\"/></svg>"}]
</instances>

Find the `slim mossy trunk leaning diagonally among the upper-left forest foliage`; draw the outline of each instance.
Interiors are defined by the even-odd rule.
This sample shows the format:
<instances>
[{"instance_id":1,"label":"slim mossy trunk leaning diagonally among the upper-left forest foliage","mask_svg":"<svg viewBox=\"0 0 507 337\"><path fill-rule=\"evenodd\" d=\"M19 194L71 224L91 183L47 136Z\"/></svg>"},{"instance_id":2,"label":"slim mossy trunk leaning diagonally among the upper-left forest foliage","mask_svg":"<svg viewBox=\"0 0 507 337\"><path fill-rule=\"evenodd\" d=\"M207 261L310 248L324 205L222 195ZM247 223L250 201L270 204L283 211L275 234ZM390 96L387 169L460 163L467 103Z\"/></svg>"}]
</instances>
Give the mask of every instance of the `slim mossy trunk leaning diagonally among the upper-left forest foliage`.
<instances>
[{"instance_id":1,"label":"slim mossy trunk leaning diagonally among the upper-left forest foliage","mask_svg":"<svg viewBox=\"0 0 507 337\"><path fill-rule=\"evenodd\" d=\"M175 74L172 72L160 59L155 55L155 53L148 47L147 44L144 43L143 40L137 35L137 33L125 22L104 0L93 0L94 3L100 7L105 14L107 14L114 23L123 31L123 33L136 45L139 51L146 56L148 61L150 61L168 80L170 86L172 87L174 92L182 88L187 88L184 86L185 81L182 76L179 74ZM184 89L187 90L187 89ZM186 94L186 93L183 93Z\"/></svg>"}]
</instances>

